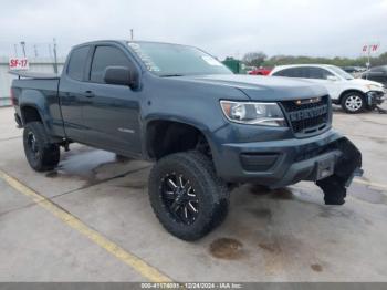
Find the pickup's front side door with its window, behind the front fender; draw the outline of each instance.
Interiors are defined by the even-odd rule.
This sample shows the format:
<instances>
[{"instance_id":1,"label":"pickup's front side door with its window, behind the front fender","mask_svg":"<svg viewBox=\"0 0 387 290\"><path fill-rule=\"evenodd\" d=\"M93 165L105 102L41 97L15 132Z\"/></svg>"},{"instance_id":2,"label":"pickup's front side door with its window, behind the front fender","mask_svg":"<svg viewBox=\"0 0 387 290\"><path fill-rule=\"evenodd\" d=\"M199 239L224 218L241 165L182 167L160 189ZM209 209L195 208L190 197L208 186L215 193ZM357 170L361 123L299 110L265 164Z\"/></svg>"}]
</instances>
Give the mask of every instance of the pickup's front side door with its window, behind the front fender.
<instances>
[{"instance_id":1,"label":"pickup's front side door with its window, behind the front fender","mask_svg":"<svg viewBox=\"0 0 387 290\"><path fill-rule=\"evenodd\" d=\"M138 70L128 52L118 45L94 48L87 83L84 85L83 121L88 144L117 153L140 153L139 92L128 85L106 84L107 66Z\"/></svg>"}]
</instances>

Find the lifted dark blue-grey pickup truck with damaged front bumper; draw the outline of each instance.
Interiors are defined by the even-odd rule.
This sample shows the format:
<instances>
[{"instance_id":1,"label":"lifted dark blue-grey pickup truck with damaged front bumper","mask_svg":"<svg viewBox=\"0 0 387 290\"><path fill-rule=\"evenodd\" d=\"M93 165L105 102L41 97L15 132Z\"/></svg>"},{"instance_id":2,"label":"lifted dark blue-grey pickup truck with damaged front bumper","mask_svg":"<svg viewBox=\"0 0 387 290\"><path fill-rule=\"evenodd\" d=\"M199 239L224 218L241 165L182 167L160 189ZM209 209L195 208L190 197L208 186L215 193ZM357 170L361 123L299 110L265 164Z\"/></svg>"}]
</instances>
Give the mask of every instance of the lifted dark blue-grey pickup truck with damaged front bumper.
<instances>
[{"instance_id":1,"label":"lifted dark blue-grey pickup truck with damaged front bumper","mask_svg":"<svg viewBox=\"0 0 387 290\"><path fill-rule=\"evenodd\" d=\"M362 155L332 130L325 89L234 75L186 45L97 41L62 75L19 73L11 87L30 166L51 170L73 142L155 160L150 204L172 235L195 240L228 213L232 186L315 182L342 205Z\"/></svg>"}]
</instances>

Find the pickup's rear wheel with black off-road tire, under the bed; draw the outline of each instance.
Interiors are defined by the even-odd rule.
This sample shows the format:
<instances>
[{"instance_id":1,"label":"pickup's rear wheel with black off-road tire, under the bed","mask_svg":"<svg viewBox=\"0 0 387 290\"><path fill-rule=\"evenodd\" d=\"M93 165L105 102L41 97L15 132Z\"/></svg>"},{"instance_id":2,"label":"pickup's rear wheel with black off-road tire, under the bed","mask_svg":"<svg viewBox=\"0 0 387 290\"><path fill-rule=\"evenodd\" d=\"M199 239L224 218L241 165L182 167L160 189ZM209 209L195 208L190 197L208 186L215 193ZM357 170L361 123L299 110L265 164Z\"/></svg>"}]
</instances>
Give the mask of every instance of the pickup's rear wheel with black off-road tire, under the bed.
<instances>
[{"instance_id":1,"label":"pickup's rear wheel with black off-road tire, under the bed","mask_svg":"<svg viewBox=\"0 0 387 290\"><path fill-rule=\"evenodd\" d=\"M33 149L31 146L32 138L35 146ZM25 124L23 145L27 160L36 172L52 170L60 162L60 146L50 142L41 122Z\"/></svg>"}]
</instances>

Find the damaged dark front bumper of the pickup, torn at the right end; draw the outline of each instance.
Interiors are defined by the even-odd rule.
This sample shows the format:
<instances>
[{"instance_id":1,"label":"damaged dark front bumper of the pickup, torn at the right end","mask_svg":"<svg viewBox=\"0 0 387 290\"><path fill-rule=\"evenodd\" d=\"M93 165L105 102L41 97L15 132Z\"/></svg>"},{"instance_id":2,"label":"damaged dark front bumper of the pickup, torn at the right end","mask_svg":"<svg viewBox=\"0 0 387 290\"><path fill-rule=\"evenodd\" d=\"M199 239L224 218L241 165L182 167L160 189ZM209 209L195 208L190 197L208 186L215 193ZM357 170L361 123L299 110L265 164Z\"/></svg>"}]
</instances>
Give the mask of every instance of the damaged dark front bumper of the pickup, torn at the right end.
<instances>
[{"instance_id":1,"label":"damaged dark front bumper of the pickup, torn at the right end","mask_svg":"<svg viewBox=\"0 0 387 290\"><path fill-rule=\"evenodd\" d=\"M317 164L333 159L335 174L344 183L362 166L362 155L345 137L333 130L308 138L223 144L215 156L218 175L230 183L253 182L271 188L316 180ZM353 158L351 168L339 168ZM351 163L346 162L346 164Z\"/></svg>"}]
</instances>

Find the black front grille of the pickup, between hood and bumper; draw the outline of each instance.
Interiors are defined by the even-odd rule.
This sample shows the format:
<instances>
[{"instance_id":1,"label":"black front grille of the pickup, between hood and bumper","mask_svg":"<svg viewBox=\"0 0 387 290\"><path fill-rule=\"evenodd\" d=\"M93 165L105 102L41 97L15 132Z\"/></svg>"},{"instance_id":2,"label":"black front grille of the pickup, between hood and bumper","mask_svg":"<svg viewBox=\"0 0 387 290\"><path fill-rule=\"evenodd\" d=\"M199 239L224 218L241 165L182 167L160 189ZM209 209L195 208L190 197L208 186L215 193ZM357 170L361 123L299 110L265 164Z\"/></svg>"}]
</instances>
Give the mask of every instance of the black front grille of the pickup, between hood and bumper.
<instances>
[{"instance_id":1,"label":"black front grille of the pickup, between hood and bumper","mask_svg":"<svg viewBox=\"0 0 387 290\"><path fill-rule=\"evenodd\" d=\"M286 118L296 135L317 134L330 125L328 96L281 102Z\"/></svg>"}]
</instances>

